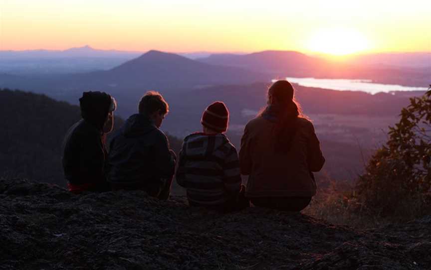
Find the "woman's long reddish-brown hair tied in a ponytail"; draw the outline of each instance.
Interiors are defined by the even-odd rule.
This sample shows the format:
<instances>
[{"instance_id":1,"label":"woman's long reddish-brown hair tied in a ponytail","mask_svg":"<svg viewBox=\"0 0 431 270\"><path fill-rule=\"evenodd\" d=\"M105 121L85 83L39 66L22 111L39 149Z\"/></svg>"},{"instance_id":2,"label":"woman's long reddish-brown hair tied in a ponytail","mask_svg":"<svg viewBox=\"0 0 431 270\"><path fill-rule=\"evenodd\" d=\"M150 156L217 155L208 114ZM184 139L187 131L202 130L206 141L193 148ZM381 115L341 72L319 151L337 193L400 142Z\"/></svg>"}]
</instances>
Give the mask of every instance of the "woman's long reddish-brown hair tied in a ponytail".
<instances>
[{"instance_id":1,"label":"woman's long reddish-brown hair tied in a ponytail","mask_svg":"<svg viewBox=\"0 0 431 270\"><path fill-rule=\"evenodd\" d=\"M273 134L276 152L287 152L296 134L296 119L302 117L300 105L294 99L294 88L285 80L279 80L268 88L268 105L260 115L277 109L277 122Z\"/></svg>"}]
</instances>

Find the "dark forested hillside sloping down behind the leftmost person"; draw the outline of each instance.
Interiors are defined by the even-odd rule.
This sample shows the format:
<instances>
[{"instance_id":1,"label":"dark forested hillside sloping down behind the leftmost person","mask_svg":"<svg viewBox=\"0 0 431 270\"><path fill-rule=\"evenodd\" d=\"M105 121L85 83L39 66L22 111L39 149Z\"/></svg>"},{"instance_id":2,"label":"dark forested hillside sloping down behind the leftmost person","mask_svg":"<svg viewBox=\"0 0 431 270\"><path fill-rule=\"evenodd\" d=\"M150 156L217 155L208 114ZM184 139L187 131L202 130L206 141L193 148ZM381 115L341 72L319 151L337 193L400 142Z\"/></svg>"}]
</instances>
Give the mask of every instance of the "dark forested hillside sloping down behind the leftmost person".
<instances>
[{"instance_id":1,"label":"dark forested hillside sloping down behind the leftmost person","mask_svg":"<svg viewBox=\"0 0 431 270\"><path fill-rule=\"evenodd\" d=\"M80 119L78 106L0 89L0 176L65 185L61 144L67 130ZM116 118L115 125L122 125L122 120Z\"/></svg>"}]
</instances>

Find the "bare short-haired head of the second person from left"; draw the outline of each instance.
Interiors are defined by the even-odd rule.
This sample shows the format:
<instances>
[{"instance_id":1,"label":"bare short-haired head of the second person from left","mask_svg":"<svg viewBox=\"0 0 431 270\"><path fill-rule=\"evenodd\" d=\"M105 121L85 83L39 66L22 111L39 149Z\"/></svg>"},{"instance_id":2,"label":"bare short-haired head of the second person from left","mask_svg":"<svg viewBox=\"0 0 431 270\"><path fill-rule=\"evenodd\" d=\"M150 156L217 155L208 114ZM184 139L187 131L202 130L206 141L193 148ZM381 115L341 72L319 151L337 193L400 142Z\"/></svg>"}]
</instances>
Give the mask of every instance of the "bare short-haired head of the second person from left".
<instances>
[{"instance_id":1,"label":"bare short-haired head of the second person from left","mask_svg":"<svg viewBox=\"0 0 431 270\"><path fill-rule=\"evenodd\" d=\"M154 121L156 127L160 128L163 119L169 112L169 105L159 92L148 91L139 102L138 111Z\"/></svg>"}]
</instances>

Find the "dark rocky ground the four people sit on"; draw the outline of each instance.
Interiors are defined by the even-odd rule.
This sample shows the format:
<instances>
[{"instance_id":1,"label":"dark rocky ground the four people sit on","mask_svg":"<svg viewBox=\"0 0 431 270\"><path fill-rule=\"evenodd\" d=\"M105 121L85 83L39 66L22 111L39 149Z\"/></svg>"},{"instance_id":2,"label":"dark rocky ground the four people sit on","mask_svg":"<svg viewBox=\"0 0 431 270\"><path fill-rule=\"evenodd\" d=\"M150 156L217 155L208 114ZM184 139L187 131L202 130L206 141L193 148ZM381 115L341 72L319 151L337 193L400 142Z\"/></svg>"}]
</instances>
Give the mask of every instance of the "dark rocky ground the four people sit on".
<instances>
[{"instance_id":1,"label":"dark rocky ground the four people sit on","mask_svg":"<svg viewBox=\"0 0 431 270\"><path fill-rule=\"evenodd\" d=\"M0 180L0 269L431 269L431 217L354 230L258 207L231 214L144 192L71 195Z\"/></svg>"}]
</instances>

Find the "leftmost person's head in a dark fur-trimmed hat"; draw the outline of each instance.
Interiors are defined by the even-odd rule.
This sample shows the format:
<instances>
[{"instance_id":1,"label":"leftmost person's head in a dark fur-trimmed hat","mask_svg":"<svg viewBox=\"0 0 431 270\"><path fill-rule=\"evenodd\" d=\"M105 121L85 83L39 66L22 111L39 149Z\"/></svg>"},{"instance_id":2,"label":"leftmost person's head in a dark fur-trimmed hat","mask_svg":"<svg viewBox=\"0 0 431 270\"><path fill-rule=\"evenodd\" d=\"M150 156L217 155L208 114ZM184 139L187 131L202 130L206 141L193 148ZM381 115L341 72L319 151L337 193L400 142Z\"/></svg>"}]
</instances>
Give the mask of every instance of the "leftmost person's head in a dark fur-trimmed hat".
<instances>
[{"instance_id":1,"label":"leftmost person's head in a dark fur-trimmed hat","mask_svg":"<svg viewBox=\"0 0 431 270\"><path fill-rule=\"evenodd\" d=\"M117 102L105 92L83 92L79 99L81 117L101 132L107 133L113 127L113 112Z\"/></svg>"}]
</instances>

